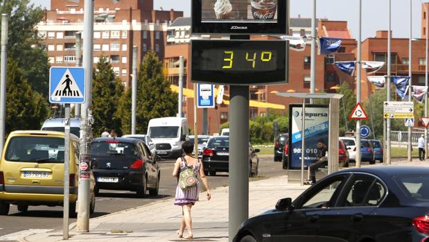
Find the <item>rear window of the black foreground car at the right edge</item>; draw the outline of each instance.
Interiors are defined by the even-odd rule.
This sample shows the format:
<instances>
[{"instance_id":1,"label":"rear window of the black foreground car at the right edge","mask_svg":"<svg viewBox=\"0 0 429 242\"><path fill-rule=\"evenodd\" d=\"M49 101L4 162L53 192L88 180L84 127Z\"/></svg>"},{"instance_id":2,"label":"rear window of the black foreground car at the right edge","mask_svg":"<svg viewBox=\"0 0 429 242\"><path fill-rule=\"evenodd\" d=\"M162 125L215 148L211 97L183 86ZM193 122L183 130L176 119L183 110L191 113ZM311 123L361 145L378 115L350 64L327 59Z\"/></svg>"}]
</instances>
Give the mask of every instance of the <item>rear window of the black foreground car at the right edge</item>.
<instances>
[{"instance_id":1,"label":"rear window of the black foreground car at the right edge","mask_svg":"<svg viewBox=\"0 0 429 242\"><path fill-rule=\"evenodd\" d=\"M429 202L428 175L399 175L395 178L407 196L422 202Z\"/></svg>"}]
</instances>

